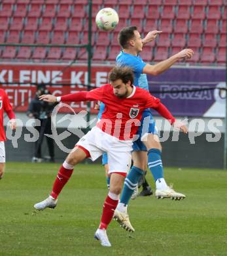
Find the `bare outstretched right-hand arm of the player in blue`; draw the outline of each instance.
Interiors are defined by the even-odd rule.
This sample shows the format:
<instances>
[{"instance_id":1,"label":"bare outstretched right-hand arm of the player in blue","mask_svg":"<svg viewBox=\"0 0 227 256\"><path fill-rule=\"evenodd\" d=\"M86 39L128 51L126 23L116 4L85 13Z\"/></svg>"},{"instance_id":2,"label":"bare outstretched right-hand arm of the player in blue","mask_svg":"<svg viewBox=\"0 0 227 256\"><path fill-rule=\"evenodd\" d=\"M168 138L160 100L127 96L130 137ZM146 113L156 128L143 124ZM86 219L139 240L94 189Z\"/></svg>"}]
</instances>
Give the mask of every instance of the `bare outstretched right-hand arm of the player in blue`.
<instances>
[{"instance_id":1,"label":"bare outstretched right-hand arm of the player in blue","mask_svg":"<svg viewBox=\"0 0 227 256\"><path fill-rule=\"evenodd\" d=\"M163 60L155 65L146 64L143 68L144 74L158 75L162 72L168 70L173 64L177 61L182 60L183 58L192 58L194 52L192 49L184 49L177 54L167 58L167 60Z\"/></svg>"}]
</instances>

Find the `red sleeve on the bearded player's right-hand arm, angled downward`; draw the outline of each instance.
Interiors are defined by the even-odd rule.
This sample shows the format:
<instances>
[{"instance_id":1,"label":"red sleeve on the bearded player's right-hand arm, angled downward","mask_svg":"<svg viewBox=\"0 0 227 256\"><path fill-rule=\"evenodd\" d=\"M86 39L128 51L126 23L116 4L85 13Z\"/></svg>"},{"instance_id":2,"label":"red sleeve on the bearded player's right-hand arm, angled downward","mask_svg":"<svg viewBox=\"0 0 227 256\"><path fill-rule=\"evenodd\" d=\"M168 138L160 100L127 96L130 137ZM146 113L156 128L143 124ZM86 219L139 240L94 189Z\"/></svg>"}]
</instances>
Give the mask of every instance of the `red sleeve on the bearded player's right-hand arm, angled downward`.
<instances>
[{"instance_id":1,"label":"red sleeve on the bearded player's right-hand arm, angled downward","mask_svg":"<svg viewBox=\"0 0 227 256\"><path fill-rule=\"evenodd\" d=\"M154 110L156 110L158 114L160 114L160 116L166 118L169 121L169 123L172 124L175 122L175 118L172 116L169 110L167 110L166 106L164 106L164 104L160 102L160 99L150 95L150 93L147 93L146 106L148 108L154 108Z\"/></svg>"}]
</instances>

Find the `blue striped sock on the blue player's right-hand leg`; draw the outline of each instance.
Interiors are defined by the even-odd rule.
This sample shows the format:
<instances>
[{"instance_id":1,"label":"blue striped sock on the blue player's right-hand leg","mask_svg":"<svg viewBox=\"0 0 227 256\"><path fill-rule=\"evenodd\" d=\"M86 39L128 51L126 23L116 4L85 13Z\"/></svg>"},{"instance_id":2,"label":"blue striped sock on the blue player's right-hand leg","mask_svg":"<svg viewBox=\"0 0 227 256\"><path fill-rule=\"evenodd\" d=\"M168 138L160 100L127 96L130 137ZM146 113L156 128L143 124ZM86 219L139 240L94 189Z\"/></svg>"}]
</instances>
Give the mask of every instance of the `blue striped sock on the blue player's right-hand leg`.
<instances>
[{"instance_id":1,"label":"blue striped sock on the blue player's right-hand leg","mask_svg":"<svg viewBox=\"0 0 227 256\"><path fill-rule=\"evenodd\" d=\"M163 178L162 152L157 148L151 148L147 152L148 167L154 177L154 181Z\"/></svg>"}]
</instances>

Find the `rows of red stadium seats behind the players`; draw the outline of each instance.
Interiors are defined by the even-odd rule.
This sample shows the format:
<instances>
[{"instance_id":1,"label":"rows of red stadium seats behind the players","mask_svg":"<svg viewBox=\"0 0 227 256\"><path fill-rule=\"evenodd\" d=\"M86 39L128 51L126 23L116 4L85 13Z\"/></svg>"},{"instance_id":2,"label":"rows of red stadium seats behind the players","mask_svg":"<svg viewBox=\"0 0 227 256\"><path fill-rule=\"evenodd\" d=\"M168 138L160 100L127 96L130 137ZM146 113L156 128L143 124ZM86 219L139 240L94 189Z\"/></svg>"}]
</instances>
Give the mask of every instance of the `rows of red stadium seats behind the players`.
<instances>
[{"instance_id":1,"label":"rows of red stadium seats behind the players","mask_svg":"<svg viewBox=\"0 0 227 256\"><path fill-rule=\"evenodd\" d=\"M114 32L101 32L95 24L103 7L120 16ZM119 53L117 36L124 26L137 26L142 37L162 30L156 41L143 49L144 60L160 61L184 47L194 49L190 63L224 64L226 0L94 0L92 1L94 61L114 61ZM0 1L0 43L88 43L87 0ZM22 60L86 60L85 49L2 47L1 58Z\"/></svg>"}]
</instances>

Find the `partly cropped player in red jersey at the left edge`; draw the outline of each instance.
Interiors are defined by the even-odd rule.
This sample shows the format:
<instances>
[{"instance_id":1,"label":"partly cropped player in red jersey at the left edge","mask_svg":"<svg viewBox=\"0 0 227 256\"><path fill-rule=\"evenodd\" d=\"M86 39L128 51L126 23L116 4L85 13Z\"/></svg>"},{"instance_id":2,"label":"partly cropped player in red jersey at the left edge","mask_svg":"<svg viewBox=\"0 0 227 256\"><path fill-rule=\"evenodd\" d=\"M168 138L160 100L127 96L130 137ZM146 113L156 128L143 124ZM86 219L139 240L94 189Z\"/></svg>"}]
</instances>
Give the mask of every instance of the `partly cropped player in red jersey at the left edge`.
<instances>
[{"instance_id":1,"label":"partly cropped player in red jersey at the left edge","mask_svg":"<svg viewBox=\"0 0 227 256\"><path fill-rule=\"evenodd\" d=\"M0 89L0 179L3 178L3 174L5 171L5 130L3 127L3 113L7 112L7 116L10 119L10 128L16 129L16 121L15 121L15 114L12 111L12 106L9 102L9 98L7 93Z\"/></svg>"}]
</instances>

